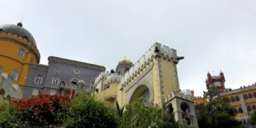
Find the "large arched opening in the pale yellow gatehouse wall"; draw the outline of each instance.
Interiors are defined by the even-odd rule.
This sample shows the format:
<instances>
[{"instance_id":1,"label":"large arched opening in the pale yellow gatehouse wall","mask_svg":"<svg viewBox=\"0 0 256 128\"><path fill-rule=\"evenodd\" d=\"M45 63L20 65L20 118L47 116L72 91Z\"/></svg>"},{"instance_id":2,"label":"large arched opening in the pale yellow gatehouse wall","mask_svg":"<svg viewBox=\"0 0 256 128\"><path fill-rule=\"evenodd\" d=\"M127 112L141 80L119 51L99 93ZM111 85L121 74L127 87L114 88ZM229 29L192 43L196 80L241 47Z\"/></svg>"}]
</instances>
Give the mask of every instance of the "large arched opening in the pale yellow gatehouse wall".
<instances>
[{"instance_id":1,"label":"large arched opening in the pale yellow gatehouse wall","mask_svg":"<svg viewBox=\"0 0 256 128\"><path fill-rule=\"evenodd\" d=\"M142 97L143 102L148 103L150 98L150 92L146 85L140 85L131 95L131 99L129 103L136 102L138 98Z\"/></svg>"}]
</instances>

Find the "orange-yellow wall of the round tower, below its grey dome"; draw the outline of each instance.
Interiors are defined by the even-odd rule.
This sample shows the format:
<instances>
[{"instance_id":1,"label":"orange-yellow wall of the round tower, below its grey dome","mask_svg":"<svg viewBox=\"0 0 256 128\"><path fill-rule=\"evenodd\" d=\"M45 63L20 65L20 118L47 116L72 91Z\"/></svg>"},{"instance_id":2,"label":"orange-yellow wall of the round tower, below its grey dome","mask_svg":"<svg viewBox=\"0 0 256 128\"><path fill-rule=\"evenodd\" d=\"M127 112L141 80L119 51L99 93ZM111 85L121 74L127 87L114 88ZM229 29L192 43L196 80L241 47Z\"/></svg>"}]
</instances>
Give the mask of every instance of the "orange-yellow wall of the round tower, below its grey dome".
<instances>
[{"instance_id":1,"label":"orange-yellow wall of the round tower, below its grey dome","mask_svg":"<svg viewBox=\"0 0 256 128\"><path fill-rule=\"evenodd\" d=\"M38 49L24 38L20 38L14 34L0 32L0 36L15 39L15 41L0 39L0 66L3 67L3 73L9 73L11 75L14 69L17 70L19 76L15 80L15 84L25 85L28 64L39 63L40 55ZM26 55L23 58L19 56L20 49L25 50Z\"/></svg>"}]
</instances>

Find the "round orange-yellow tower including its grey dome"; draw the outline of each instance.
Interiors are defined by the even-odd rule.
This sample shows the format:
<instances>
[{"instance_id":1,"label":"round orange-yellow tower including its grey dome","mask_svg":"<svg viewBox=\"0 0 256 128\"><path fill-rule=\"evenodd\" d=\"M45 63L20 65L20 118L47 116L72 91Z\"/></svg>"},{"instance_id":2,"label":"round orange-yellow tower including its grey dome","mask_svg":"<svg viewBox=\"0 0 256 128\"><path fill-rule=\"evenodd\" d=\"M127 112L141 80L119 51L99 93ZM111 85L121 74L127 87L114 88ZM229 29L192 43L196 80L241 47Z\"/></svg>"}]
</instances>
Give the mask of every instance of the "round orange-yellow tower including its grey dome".
<instances>
[{"instance_id":1,"label":"round orange-yellow tower including its grey dome","mask_svg":"<svg viewBox=\"0 0 256 128\"><path fill-rule=\"evenodd\" d=\"M8 73L14 84L24 86L30 63L39 63L35 39L21 23L0 26L0 70Z\"/></svg>"}]
</instances>

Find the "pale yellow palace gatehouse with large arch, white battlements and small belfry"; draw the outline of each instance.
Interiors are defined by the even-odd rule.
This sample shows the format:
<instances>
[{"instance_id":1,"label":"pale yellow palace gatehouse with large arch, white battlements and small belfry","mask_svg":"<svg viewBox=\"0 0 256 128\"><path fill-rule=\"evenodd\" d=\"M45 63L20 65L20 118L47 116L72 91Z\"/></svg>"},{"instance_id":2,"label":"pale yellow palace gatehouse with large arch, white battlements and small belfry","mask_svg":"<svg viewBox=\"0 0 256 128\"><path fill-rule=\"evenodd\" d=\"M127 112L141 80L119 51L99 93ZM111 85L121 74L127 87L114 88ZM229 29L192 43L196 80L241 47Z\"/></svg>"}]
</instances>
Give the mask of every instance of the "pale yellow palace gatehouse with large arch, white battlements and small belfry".
<instances>
[{"instance_id":1,"label":"pale yellow palace gatehouse with large arch, white battlements and small belfry","mask_svg":"<svg viewBox=\"0 0 256 128\"><path fill-rule=\"evenodd\" d=\"M101 73L95 80L95 95L121 107L142 97L148 106L174 113L179 123L198 127L192 96L180 92L177 63L182 59L176 49L155 43L134 64L125 59L115 71Z\"/></svg>"}]
</instances>

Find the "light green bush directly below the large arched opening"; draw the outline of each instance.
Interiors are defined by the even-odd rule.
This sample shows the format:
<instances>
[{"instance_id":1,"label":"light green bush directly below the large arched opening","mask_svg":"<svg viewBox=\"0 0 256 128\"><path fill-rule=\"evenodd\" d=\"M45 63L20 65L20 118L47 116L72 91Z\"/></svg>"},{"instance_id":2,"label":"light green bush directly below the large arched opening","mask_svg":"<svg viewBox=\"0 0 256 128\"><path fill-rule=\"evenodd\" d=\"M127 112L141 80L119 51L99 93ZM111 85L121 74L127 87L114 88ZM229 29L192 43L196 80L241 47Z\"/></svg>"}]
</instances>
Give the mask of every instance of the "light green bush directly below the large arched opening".
<instances>
[{"instance_id":1,"label":"light green bush directly below the large arched opening","mask_svg":"<svg viewBox=\"0 0 256 128\"><path fill-rule=\"evenodd\" d=\"M119 127L124 128L154 128L178 127L172 114L167 114L160 108L145 107L142 101L126 106Z\"/></svg>"}]
</instances>

